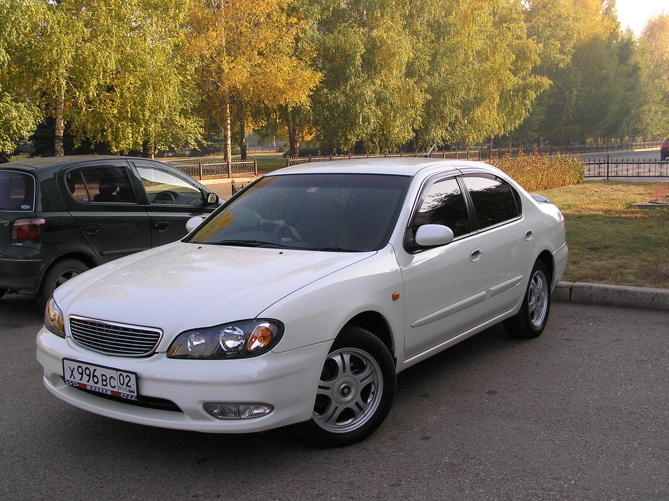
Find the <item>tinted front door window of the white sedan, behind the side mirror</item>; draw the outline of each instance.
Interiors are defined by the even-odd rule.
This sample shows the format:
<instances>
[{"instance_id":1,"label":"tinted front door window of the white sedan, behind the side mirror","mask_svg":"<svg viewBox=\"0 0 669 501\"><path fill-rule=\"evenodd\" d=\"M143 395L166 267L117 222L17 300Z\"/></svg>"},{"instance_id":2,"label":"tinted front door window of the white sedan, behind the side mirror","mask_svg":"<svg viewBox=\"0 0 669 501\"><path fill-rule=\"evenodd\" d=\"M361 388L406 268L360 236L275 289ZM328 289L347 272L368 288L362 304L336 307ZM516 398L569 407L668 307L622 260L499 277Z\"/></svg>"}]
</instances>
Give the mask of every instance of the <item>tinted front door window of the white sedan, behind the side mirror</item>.
<instances>
[{"instance_id":1,"label":"tinted front door window of the white sedan, behind the side mirror","mask_svg":"<svg viewBox=\"0 0 669 501\"><path fill-rule=\"evenodd\" d=\"M470 232L467 206L454 177L436 182L427 190L411 224L413 234L423 224L443 224L453 230L454 236Z\"/></svg>"}]
</instances>

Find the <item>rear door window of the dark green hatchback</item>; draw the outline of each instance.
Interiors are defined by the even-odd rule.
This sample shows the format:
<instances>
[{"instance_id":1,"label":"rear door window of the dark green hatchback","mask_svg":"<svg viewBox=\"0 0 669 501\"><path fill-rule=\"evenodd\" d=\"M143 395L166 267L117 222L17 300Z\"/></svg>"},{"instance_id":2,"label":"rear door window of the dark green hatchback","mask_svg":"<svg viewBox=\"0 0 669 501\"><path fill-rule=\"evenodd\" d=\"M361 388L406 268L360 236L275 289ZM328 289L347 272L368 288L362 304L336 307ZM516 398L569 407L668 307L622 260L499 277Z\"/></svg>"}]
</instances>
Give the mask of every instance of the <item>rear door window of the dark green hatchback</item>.
<instances>
[{"instance_id":1,"label":"rear door window of the dark green hatchback","mask_svg":"<svg viewBox=\"0 0 669 501\"><path fill-rule=\"evenodd\" d=\"M97 165L66 174L70 194L80 202L134 204L134 192L125 167Z\"/></svg>"}]
</instances>

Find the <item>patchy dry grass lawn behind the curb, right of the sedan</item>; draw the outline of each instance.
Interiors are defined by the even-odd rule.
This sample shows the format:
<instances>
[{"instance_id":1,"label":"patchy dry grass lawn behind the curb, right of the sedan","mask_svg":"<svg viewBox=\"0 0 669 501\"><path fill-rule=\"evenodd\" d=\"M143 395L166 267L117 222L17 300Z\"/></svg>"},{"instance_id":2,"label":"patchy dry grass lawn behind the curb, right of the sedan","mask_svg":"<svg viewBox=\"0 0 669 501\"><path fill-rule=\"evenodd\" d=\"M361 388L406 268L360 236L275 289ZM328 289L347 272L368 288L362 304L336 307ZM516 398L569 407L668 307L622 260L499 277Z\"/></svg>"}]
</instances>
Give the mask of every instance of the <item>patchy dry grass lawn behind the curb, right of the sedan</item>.
<instances>
[{"instance_id":1,"label":"patchy dry grass lawn behind the curb, right of the sedan","mask_svg":"<svg viewBox=\"0 0 669 501\"><path fill-rule=\"evenodd\" d=\"M669 183L586 181L544 190L565 215L563 280L669 289L669 211L630 208L669 195Z\"/></svg>"}]
</instances>

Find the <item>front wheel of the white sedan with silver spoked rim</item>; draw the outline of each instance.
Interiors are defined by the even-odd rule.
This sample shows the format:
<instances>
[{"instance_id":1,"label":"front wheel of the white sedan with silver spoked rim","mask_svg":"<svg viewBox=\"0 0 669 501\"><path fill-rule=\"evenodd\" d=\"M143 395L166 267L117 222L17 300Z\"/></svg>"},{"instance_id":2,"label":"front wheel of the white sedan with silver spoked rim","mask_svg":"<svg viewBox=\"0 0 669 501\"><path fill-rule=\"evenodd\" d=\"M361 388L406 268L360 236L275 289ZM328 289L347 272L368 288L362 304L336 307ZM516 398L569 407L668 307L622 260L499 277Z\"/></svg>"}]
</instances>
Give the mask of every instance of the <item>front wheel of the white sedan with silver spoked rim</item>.
<instances>
[{"instance_id":1,"label":"front wheel of the white sedan with silver spoked rim","mask_svg":"<svg viewBox=\"0 0 669 501\"><path fill-rule=\"evenodd\" d=\"M349 360L350 370L348 374L350 376L348 374L342 375L339 369L341 366L334 367L332 365L335 363L334 359L330 358L332 354L335 354L335 358L339 356L342 364L344 360ZM346 358L347 354L349 355L348 358ZM365 356L369 356L373 360L366 361ZM361 362L366 366L361 365ZM359 370L359 372L356 373L356 370ZM336 372L334 375L332 375L333 371ZM369 378L364 376L367 371L372 373ZM347 393L347 376L349 380L353 380L357 374L362 376L363 382L357 384L356 380L355 383L352 383L353 388L349 386L349 393ZM377 376L380 379L379 381L370 382L371 377ZM324 382L324 380L326 381ZM327 384L330 384L329 388L331 388L332 394L335 394L334 398L349 399L349 401L339 405L332 397L324 395L322 388L328 387L324 386ZM396 384L395 362L393 362L388 348L371 332L355 326L346 326L332 343L328 358L325 360L312 419L293 425L293 429L300 438L316 447L342 447L364 440L381 426L388 415L395 399ZM372 386L373 389L370 389ZM381 395L378 395L377 390L379 388L381 389ZM329 399L329 403L324 403L326 399ZM352 410L356 409L353 407L354 405L359 405L357 402L369 405L365 411L359 414L359 417L351 418L353 421L349 425L346 424L347 421L339 423L339 417L346 418L347 412L349 412L349 415L358 412ZM341 410L338 411L340 407ZM334 417L335 415L337 417ZM325 421L328 417L332 421L326 424ZM334 427L340 429L336 432L331 431Z\"/></svg>"}]
</instances>

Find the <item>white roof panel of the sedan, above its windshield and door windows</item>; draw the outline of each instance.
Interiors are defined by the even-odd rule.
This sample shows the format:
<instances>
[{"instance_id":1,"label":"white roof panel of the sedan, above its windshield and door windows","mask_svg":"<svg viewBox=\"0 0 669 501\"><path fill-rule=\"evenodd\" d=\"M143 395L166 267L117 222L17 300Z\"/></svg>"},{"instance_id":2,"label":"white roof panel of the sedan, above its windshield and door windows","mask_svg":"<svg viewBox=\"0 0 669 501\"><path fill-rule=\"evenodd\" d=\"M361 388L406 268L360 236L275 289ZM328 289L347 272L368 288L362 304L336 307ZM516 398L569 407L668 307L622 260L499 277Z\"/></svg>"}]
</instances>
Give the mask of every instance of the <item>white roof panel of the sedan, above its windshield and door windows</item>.
<instances>
[{"instance_id":1,"label":"white roof panel of the sedan, above its windshield and door windows","mask_svg":"<svg viewBox=\"0 0 669 501\"><path fill-rule=\"evenodd\" d=\"M467 160L448 160L425 157L400 158L357 158L351 160L315 161L292 165L272 171L267 175L306 173L351 173L351 174L394 174L416 175L428 167L487 167L484 163ZM432 169L430 169L432 170Z\"/></svg>"}]
</instances>

